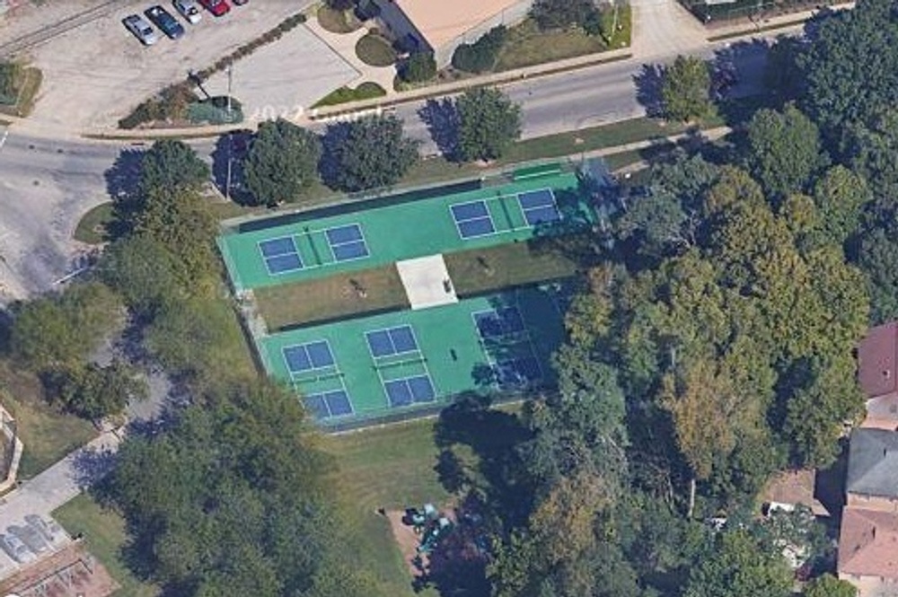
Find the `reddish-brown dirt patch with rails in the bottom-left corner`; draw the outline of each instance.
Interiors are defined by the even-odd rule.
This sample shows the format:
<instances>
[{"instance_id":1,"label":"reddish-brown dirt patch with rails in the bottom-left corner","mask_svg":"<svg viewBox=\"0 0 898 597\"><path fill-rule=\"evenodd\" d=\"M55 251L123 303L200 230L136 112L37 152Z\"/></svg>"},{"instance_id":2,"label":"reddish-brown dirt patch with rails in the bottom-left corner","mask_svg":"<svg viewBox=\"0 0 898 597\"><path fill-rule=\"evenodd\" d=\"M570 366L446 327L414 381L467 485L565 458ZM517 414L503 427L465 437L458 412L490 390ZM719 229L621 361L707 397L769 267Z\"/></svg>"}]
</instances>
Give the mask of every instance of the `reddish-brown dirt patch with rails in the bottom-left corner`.
<instances>
[{"instance_id":1,"label":"reddish-brown dirt patch with rails in the bottom-left corner","mask_svg":"<svg viewBox=\"0 0 898 597\"><path fill-rule=\"evenodd\" d=\"M80 542L69 544L0 583L0 594L22 597L107 597L118 589L119 584Z\"/></svg>"}]
</instances>

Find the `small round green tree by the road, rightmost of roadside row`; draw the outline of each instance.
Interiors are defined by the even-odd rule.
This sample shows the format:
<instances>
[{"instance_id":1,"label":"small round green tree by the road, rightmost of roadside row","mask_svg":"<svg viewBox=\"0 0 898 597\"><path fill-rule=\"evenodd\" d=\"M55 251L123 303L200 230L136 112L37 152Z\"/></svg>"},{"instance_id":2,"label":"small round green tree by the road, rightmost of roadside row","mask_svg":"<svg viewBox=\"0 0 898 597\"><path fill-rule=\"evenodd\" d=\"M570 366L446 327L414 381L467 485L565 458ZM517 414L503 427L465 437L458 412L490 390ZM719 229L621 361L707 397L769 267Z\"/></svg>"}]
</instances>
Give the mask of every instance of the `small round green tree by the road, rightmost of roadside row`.
<instances>
[{"instance_id":1,"label":"small round green tree by the road, rightmost of roadside row","mask_svg":"<svg viewBox=\"0 0 898 597\"><path fill-rule=\"evenodd\" d=\"M678 56L667 66L661 84L661 101L669 120L700 119L711 110L711 77L699 57Z\"/></svg>"}]
</instances>

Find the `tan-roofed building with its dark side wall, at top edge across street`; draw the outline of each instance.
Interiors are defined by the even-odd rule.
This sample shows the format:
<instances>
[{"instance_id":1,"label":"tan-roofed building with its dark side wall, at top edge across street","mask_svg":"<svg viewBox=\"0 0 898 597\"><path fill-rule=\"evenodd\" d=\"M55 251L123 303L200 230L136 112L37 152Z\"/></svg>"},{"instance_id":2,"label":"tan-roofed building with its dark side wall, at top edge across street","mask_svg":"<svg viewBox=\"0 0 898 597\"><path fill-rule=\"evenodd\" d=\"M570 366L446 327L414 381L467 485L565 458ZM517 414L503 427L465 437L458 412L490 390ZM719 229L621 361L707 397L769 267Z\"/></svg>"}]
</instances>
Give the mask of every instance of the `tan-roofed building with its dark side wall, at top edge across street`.
<instances>
[{"instance_id":1,"label":"tan-roofed building with its dark side wall, at top edge across street","mask_svg":"<svg viewBox=\"0 0 898 597\"><path fill-rule=\"evenodd\" d=\"M447 66L455 48L497 25L523 21L533 0L372 0L377 20L409 52L431 51Z\"/></svg>"}]
</instances>

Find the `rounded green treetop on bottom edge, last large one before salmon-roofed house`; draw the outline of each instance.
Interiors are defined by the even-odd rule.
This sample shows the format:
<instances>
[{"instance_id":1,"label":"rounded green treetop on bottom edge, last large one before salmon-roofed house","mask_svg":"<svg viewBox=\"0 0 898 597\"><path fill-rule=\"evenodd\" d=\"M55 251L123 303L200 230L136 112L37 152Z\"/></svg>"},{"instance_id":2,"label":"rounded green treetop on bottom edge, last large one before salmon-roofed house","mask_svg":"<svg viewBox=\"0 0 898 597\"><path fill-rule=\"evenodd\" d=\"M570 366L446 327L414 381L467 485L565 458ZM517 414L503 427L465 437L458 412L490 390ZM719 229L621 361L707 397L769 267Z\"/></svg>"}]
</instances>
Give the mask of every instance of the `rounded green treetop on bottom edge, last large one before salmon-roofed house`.
<instances>
[{"instance_id":1,"label":"rounded green treetop on bottom edge, last large one before salmon-roofed house","mask_svg":"<svg viewBox=\"0 0 898 597\"><path fill-rule=\"evenodd\" d=\"M684 597L788 597L792 575L775 550L762 549L748 531L718 535L698 566L692 569Z\"/></svg>"}]
</instances>

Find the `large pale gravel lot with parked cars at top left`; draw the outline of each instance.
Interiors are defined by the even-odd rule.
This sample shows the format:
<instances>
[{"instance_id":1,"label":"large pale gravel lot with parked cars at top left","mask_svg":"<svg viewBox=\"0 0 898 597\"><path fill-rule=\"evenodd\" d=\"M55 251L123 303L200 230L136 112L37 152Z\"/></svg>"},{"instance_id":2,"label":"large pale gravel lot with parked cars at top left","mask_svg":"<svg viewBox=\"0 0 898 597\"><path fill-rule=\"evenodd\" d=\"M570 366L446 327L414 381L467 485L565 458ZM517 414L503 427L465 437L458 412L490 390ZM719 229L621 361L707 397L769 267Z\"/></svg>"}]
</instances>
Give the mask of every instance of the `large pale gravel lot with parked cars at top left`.
<instances>
[{"instance_id":1,"label":"large pale gravel lot with parked cars at top left","mask_svg":"<svg viewBox=\"0 0 898 597\"><path fill-rule=\"evenodd\" d=\"M184 23L187 33L180 40L163 37L145 48L121 20L150 4L153 0L126 4L33 48L32 62L43 71L44 83L32 119L70 130L114 127L140 101L189 71L211 66L304 7L260 0L233 6L218 18L206 12L198 24Z\"/></svg>"}]
</instances>

